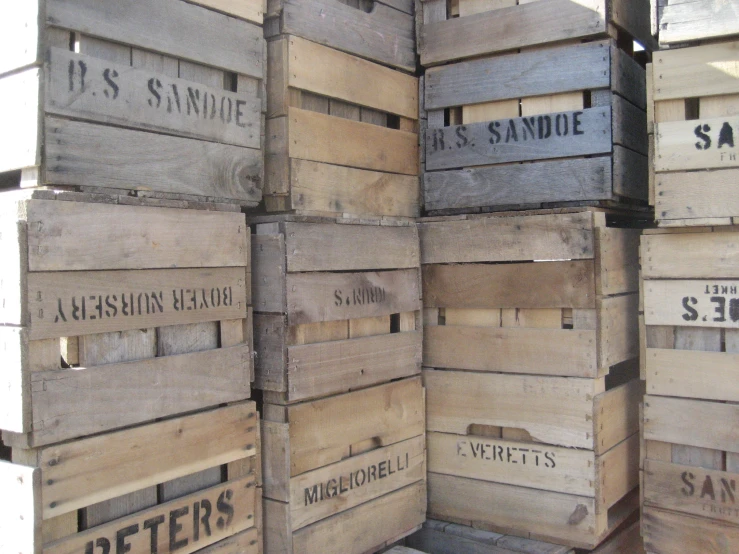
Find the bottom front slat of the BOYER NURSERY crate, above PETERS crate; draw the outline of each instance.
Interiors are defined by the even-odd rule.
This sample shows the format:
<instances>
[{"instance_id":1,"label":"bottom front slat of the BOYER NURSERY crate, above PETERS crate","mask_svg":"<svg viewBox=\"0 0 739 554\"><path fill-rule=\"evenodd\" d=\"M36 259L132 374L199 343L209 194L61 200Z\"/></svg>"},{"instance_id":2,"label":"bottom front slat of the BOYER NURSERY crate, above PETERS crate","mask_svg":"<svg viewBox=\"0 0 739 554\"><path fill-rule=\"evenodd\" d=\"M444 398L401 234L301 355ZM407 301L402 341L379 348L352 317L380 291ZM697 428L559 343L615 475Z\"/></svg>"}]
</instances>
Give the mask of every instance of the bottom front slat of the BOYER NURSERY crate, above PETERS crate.
<instances>
[{"instance_id":1,"label":"bottom front slat of the BOYER NURSERY crate, above PETERS crate","mask_svg":"<svg viewBox=\"0 0 739 554\"><path fill-rule=\"evenodd\" d=\"M249 397L246 346L34 373L34 444L152 421ZM130 394L120 397L121 391ZM80 403L80 395L85 398Z\"/></svg>"}]
</instances>

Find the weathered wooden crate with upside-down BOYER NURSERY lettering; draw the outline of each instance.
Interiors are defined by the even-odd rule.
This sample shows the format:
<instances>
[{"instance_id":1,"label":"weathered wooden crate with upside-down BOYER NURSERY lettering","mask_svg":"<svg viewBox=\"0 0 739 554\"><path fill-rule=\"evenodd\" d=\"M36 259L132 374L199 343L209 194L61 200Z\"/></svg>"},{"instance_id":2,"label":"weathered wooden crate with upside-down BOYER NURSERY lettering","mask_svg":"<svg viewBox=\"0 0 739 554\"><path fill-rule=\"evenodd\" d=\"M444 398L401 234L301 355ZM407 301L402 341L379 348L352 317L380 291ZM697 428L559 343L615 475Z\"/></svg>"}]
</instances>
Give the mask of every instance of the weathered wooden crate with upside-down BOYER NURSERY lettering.
<instances>
[{"instance_id":1,"label":"weathered wooden crate with upside-down BOYER NURSERY lettering","mask_svg":"<svg viewBox=\"0 0 739 554\"><path fill-rule=\"evenodd\" d=\"M0 197L6 443L49 445L249 398L244 216L69 197Z\"/></svg>"}]
</instances>

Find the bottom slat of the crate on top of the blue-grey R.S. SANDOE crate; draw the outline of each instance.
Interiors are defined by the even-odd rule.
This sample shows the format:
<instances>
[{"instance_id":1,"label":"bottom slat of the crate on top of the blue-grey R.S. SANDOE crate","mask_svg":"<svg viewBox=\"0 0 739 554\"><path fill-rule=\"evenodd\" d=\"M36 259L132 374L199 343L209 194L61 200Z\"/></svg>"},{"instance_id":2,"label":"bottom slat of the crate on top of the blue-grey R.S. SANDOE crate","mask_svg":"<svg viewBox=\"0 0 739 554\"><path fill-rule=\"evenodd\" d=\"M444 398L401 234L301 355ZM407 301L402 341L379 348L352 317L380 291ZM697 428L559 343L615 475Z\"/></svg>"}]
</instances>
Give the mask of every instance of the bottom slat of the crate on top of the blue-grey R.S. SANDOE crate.
<instances>
[{"instance_id":1,"label":"bottom slat of the crate on top of the blue-grey R.S. SANDOE crate","mask_svg":"<svg viewBox=\"0 0 739 554\"><path fill-rule=\"evenodd\" d=\"M522 2L523 4L523 2ZM550 0L486 11L422 28L421 64L491 54L606 32L605 0Z\"/></svg>"}]
</instances>

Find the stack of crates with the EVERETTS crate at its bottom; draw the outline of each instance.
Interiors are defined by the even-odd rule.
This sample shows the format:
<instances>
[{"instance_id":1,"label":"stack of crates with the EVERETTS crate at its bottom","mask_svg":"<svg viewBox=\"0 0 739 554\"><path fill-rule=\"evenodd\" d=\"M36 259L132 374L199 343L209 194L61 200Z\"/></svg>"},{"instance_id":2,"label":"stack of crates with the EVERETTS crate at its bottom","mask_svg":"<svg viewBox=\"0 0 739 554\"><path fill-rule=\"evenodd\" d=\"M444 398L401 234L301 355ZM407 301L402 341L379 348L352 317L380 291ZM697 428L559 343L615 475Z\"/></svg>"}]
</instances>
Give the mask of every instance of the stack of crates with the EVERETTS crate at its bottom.
<instances>
[{"instance_id":1,"label":"stack of crates with the EVERETTS crate at its bottom","mask_svg":"<svg viewBox=\"0 0 739 554\"><path fill-rule=\"evenodd\" d=\"M639 504L648 5L417 6L429 516L592 549Z\"/></svg>"}]
</instances>

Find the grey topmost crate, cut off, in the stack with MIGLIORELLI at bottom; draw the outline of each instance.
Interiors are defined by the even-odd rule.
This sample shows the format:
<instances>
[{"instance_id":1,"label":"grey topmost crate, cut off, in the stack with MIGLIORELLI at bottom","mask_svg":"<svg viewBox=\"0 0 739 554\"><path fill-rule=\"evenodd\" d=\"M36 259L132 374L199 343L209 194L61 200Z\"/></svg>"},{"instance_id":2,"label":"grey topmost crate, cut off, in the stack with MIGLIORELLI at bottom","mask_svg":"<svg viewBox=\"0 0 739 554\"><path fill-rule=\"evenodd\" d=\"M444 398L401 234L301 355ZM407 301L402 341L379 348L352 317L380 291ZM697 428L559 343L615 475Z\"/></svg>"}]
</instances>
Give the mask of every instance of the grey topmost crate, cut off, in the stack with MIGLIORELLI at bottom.
<instances>
[{"instance_id":1,"label":"grey topmost crate, cut off, in the stack with MIGLIORELLI at bottom","mask_svg":"<svg viewBox=\"0 0 739 554\"><path fill-rule=\"evenodd\" d=\"M295 35L416 71L414 0L268 0L264 36Z\"/></svg>"}]
</instances>

